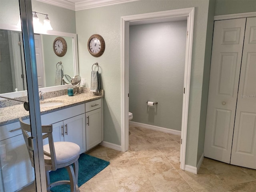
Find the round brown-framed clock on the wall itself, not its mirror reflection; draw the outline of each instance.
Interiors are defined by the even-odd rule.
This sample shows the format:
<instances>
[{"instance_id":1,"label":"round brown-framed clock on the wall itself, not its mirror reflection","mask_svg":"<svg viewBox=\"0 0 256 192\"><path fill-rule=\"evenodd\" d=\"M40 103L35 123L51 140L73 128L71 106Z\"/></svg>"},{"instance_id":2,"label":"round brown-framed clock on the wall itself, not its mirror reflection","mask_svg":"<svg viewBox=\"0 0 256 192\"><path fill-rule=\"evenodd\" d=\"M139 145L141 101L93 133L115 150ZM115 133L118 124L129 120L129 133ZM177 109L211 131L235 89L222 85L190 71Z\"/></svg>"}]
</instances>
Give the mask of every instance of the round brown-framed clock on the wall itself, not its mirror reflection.
<instances>
[{"instance_id":1,"label":"round brown-framed clock on the wall itself, not its mirror reflection","mask_svg":"<svg viewBox=\"0 0 256 192\"><path fill-rule=\"evenodd\" d=\"M102 36L94 34L90 36L87 48L89 53L94 57L99 57L104 53L105 50L105 41Z\"/></svg>"}]
</instances>

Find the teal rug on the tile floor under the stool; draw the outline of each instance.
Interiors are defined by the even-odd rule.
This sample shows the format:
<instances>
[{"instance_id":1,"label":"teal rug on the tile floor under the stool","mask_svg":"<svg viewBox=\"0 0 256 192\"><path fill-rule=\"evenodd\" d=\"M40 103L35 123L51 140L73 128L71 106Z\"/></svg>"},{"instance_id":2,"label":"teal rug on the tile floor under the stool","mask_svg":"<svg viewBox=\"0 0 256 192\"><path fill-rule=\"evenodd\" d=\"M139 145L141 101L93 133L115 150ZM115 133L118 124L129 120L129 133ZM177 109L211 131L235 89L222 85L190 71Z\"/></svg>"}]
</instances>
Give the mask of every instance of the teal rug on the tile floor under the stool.
<instances>
[{"instance_id":1,"label":"teal rug on the tile floor under the stool","mask_svg":"<svg viewBox=\"0 0 256 192\"><path fill-rule=\"evenodd\" d=\"M78 187L88 181L90 178L102 171L109 165L108 161L87 155L80 154L78 159ZM50 172L50 182L59 180L69 180L68 171L65 168ZM51 188L51 192L70 192L70 185L59 185Z\"/></svg>"}]
</instances>

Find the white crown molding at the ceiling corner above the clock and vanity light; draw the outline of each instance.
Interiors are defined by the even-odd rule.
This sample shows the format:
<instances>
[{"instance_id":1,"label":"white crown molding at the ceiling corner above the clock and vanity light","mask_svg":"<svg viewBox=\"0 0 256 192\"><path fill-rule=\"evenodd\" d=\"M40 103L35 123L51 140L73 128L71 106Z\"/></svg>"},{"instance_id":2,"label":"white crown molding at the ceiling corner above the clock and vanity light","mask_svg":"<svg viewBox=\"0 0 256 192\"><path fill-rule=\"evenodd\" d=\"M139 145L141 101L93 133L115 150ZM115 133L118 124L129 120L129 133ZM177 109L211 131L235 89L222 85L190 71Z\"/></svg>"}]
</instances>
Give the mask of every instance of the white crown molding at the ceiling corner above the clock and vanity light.
<instances>
[{"instance_id":1,"label":"white crown molding at the ceiling corner above the clock and vanity light","mask_svg":"<svg viewBox=\"0 0 256 192\"><path fill-rule=\"evenodd\" d=\"M137 0L37 0L62 8L78 11L101 6L108 6Z\"/></svg>"}]
</instances>

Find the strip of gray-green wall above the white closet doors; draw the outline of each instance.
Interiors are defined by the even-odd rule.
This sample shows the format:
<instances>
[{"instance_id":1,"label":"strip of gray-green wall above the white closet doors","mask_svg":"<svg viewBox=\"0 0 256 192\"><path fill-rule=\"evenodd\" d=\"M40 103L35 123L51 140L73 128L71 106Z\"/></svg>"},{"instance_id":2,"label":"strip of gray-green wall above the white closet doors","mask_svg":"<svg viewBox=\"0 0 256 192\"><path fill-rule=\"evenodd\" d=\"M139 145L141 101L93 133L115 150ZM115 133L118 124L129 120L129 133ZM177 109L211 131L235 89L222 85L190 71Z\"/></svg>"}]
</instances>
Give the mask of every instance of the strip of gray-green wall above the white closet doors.
<instances>
[{"instance_id":1,"label":"strip of gray-green wall above the white closet doors","mask_svg":"<svg viewBox=\"0 0 256 192\"><path fill-rule=\"evenodd\" d=\"M256 12L256 0L216 0L215 15Z\"/></svg>"}]
</instances>

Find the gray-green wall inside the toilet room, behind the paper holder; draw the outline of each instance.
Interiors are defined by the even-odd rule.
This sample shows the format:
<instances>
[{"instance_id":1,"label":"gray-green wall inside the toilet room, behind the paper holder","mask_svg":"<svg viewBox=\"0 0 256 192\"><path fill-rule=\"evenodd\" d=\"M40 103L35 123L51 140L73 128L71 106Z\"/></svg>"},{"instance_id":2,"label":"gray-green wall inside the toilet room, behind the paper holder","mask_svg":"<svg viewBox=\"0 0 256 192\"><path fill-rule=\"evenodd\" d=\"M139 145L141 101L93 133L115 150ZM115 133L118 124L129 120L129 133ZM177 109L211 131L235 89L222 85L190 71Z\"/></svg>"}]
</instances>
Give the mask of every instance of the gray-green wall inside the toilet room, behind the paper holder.
<instances>
[{"instance_id":1,"label":"gray-green wall inside the toilet room, behind the paper holder","mask_svg":"<svg viewBox=\"0 0 256 192\"><path fill-rule=\"evenodd\" d=\"M181 131L186 32L186 20L130 26L132 121Z\"/></svg>"}]
</instances>

